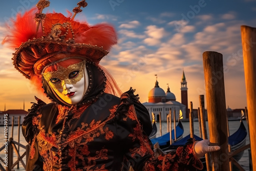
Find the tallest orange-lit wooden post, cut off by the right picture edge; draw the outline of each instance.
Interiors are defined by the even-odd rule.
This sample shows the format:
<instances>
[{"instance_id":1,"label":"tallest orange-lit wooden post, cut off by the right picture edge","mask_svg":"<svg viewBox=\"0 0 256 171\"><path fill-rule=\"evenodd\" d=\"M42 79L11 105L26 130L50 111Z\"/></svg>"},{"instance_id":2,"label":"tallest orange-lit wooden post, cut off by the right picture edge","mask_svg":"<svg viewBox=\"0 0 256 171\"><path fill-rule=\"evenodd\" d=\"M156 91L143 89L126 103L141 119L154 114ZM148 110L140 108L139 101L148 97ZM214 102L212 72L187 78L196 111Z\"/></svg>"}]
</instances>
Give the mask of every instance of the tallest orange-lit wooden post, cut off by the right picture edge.
<instances>
[{"instance_id":1,"label":"tallest orange-lit wooden post, cut off by the right picture edge","mask_svg":"<svg viewBox=\"0 0 256 171\"><path fill-rule=\"evenodd\" d=\"M256 28L241 26L252 170L256 170Z\"/></svg>"}]
</instances>

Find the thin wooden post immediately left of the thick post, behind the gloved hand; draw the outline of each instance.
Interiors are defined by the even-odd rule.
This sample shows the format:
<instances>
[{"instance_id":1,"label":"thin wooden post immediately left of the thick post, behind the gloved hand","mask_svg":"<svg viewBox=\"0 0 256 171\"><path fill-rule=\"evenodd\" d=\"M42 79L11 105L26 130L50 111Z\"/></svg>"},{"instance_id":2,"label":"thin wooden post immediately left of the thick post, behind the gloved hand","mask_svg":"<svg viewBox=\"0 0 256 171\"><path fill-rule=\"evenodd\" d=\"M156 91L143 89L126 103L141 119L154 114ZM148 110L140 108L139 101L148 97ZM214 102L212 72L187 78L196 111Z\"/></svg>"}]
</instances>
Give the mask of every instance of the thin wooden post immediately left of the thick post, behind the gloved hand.
<instances>
[{"instance_id":1,"label":"thin wooden post immediately left of the thick post, behind the gloved hand","mask_svg":"<svg viewBox=\"0 0 256 171\"><path fill-rule=\"evenodd\" d=\"M205 113L204 113L204 95L199 95L199 104L200 104L200 125L202 129L202 137L203 139L208 139L207 137L207 129L206 129L206 121L205 121ZM207 170L211 170L210 168L210 156L208 153L205 154L205 162Z\"/></svg>"}]
</instances>

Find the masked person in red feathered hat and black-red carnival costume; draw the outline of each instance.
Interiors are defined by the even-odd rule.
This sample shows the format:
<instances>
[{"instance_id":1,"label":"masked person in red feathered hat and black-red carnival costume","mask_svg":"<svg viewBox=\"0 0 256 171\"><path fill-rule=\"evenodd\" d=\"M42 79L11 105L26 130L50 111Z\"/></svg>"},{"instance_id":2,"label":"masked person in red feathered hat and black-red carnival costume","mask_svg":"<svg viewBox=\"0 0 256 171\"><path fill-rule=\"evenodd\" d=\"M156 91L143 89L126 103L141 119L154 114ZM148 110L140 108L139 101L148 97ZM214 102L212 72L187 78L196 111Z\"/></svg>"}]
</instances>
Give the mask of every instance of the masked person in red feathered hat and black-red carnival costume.
<instances>
[{"instance_id":1,"label":"masked person in red feathered hat and black-red carnival costume","mask_svg":"<svg viewBox=\"0 0 256 171\"><path fill-rule=\"evenodd\" d=\"M22 125L31 145L26 170L200 170L208 140L190 139L177 151L155 157L152 124L134 90L121 94L99 65L117 43L108 24L89 26L73 17L42 13L49 1L18 14L5 41L17 48L15 68L51 103L36 97Z\"/></svg>"}]
</instances>

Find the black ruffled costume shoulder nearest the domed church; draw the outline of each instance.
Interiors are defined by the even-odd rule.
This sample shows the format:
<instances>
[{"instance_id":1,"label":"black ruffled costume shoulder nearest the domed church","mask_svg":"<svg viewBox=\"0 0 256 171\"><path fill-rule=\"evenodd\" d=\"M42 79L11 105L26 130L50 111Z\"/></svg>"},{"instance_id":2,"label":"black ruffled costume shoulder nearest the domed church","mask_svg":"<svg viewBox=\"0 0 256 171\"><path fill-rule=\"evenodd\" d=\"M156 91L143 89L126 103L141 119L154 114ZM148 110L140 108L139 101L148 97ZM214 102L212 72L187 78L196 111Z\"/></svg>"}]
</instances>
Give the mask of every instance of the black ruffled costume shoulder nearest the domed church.
<instances>
[{"instance_id":1,"label":"black ruffled costume shoulder nearest the domed church","mask_svg":"<svg viewBox=\"0 0 256 171\"><path fill-rule=\"evenodd\" d=\"M117 114L127 113L131 105L134 105L135 112L140 124L143 126L143 131L149 136L152 132L152 123L150 114L143 104L140 103L138 94L134 95L135 90L130 88L129 91L121 95L121 103L117 108Z\"/></svg>"}]
</instances>

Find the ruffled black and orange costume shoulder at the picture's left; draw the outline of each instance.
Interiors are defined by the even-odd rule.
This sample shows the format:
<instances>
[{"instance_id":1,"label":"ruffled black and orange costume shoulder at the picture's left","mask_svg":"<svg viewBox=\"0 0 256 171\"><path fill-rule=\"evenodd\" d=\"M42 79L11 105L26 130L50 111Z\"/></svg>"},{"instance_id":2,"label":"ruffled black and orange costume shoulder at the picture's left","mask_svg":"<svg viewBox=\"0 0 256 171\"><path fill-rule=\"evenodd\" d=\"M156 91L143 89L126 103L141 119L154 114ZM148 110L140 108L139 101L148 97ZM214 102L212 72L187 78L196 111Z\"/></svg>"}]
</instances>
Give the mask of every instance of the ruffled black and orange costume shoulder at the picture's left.
<instances>
[{"instance_id":1,"label":"ruffled black and orange costume shoulder at the picture's left","mask_svg":"<svg viewBox=\"0 0 256 171\"><path fill-rule=\"evenodd\" d=\"M46 103L39 98L35 97L37 103L33 103L31 109L29 110L28 115L24 118L24 122L22 124L22 132L26 141L31 144L34 136L38 133L38 123L40 117L40 110Z\"/></svg>"}]
</instances>

